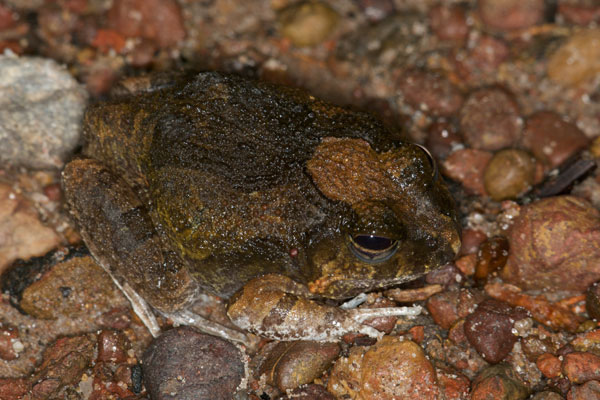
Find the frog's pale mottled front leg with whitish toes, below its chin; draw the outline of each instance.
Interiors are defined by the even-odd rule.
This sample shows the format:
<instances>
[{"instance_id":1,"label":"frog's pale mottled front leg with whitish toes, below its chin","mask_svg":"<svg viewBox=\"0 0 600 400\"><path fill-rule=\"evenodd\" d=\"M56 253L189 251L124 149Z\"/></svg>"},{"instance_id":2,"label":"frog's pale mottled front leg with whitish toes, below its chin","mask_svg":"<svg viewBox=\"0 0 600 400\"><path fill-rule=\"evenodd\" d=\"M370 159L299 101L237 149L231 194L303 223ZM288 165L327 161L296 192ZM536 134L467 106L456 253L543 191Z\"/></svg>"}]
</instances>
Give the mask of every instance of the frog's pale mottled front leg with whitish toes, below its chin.
<instances>
[{"instance_id":1,"label":"frog's pale mottled front leg with whitish toes, below its chin","mask_svg":"<svg viewBox=\"0 0 600 400\"><path fill-rule=\"evenodd\" d=\"M370 318L417 315L418 307L345 310L311 300L308 288L278 274L249 281L230 300L227 314L242 329L277 340L338 341L347 333L380 338Z\"/></svg>"}]
</instances>

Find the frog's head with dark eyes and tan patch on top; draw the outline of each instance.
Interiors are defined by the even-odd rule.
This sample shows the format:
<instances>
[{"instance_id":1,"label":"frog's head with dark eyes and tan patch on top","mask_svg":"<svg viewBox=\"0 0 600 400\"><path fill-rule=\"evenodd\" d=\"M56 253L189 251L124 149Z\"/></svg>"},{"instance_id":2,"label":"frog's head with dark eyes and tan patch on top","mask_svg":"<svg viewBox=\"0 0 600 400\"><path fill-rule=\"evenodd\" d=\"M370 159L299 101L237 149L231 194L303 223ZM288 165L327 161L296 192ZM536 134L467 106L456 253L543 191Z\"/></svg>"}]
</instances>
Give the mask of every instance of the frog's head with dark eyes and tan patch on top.
<instances>
[{"instance_id":1,"label":"frog's head with dark eyes and tan patch on top","mask_svg":"<svg viewBox=\"0 0 600 400\"><path fill-rule=\"evenodd\" d=\"M378 153L361 139L326 138L307 170L321 193L349 204L353 214L308 249L313 293L342 298L391 286L458 253L454 201L420 146Z\"/></svg>"}]
</instances>

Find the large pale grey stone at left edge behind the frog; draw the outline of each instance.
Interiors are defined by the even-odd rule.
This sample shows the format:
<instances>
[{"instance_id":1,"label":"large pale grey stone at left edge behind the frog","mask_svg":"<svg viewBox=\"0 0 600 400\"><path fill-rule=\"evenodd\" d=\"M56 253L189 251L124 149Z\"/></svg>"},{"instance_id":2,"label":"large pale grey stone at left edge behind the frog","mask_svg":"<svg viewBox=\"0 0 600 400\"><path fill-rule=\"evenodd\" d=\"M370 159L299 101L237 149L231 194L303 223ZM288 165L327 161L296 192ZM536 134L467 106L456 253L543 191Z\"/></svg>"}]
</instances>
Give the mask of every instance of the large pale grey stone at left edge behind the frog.
<instances>
[{"instance_id":1,"label":"large pale grey stone at left edge behind the frog","mask_svg":"<svg viewBox=\"0 0 600 400\"><path fill-rule=\"evenodd\" d=\"M0 164L61 168L79 142L86 100L55 61L0 56Z\"/></svg>"}]
</instances>

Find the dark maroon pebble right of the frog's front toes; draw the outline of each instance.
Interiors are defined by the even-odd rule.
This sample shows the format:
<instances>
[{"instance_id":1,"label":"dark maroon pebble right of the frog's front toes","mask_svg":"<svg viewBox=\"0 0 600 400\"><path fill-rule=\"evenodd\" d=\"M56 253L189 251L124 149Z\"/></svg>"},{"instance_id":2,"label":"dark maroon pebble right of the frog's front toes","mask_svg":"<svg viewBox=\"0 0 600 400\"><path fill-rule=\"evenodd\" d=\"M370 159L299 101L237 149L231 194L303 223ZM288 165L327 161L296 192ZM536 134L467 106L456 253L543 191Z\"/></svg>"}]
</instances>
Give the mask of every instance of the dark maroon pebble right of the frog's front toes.
<instances>
[{"instance_id":1,"label":"dark maroon pebble right of the frog's front toes","mask_svg":"<svg viewBox=\"0 0 600 400\"><path fill-rule=\"evenodd\" d=\"M465 335L479 354L492 364L502 361L517 342L515 321L527 318L525 310L488 299L465 319Z\"/></svg>"}]
</instances>

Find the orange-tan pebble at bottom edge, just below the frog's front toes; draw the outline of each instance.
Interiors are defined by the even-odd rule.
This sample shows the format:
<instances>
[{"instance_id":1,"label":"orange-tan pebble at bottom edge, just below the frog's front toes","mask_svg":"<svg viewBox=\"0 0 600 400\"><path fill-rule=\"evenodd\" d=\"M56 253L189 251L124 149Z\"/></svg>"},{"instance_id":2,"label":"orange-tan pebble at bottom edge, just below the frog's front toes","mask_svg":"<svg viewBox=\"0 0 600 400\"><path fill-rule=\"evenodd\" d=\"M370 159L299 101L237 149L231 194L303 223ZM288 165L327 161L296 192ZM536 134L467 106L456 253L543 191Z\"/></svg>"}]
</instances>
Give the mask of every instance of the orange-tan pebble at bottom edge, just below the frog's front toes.
<instances>
[{"instance_id":1,"label":"orange-tan pebble at bottom edge, just below the frog's front toes","mask_svg":"<svg viewBox=\"0 0 600 400\"><path fill-rule=\"evenodd\" d=\"M352 347L331 371L328 390L342 397L360 393L364 400L438 399L435 369L421 346L384 336L374 346Z\"/></svg>"}]
</instances>

